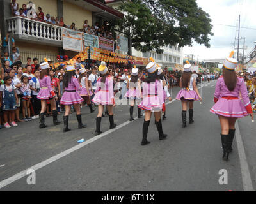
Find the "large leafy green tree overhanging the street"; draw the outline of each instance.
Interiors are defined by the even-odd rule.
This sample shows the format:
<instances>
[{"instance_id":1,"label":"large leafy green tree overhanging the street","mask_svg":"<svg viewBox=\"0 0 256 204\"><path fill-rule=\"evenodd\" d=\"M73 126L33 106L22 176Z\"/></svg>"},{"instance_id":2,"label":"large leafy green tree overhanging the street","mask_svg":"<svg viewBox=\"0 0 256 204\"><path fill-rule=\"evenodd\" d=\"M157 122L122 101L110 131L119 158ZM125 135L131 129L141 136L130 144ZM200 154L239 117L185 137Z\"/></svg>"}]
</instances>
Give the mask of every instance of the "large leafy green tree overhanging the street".
<instances>
[{"instance_id":1,"label":"large leafy green tree overhanging the street","mask_svg":"<svg viewBox=\"0 0 256 204\"><path fill-rule=\"evenodd\" d=\"M209 15L196 0L123 1L119 10L125 17L116 22L116 30L131 36L132 47L141 52L163 45L184 47L196 43L210 47L212 25Z\"/></svg>"}]
</instances>

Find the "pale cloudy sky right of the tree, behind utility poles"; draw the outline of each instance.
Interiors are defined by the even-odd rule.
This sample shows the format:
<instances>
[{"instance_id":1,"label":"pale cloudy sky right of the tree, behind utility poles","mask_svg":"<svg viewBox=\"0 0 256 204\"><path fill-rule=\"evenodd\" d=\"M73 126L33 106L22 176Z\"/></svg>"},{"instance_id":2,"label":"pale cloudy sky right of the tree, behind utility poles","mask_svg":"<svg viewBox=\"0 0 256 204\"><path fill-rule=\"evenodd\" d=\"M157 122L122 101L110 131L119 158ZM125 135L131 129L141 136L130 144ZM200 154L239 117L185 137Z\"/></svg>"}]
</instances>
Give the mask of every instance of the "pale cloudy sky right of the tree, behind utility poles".
<instances>
[{"instance_id":1,"label":"pale cloudy sky right of the tree, behind utility poles","mask_svg":"<svg viewBox=\"0 0 256 204\"><path fill-rule=\"evenodd\" d=\"M196 2L209 13L214 36L211 37L211 48L193 43L193 47L184 47L184 55L193 54L196 59L199 55L201 60L227 57L233 50L237 32L236 27L223 25L238 25L239 14L241 15L241 27L255 28L255 30L241 28L240 31L240 37L246 38L245 54L253 49L255 45L253 42L256 41L256 0L196 0ZM243 47L243 40L240 42L240 47ZM241 52L243 53L243 50Z\"/></svg>"}]
</instances>

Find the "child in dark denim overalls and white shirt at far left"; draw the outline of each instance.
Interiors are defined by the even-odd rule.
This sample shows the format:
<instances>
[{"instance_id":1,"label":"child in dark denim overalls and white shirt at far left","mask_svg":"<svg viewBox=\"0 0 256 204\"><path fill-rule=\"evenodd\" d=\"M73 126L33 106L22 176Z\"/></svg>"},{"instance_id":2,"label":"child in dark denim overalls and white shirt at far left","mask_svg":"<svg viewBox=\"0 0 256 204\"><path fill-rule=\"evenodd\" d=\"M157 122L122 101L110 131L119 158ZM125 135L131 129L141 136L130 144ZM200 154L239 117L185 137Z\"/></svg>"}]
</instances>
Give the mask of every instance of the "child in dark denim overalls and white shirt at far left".
<instances>
[{"instance_id":1,"label":"child in dark denim overalls and white shirt at far left","mask_svg":"<svg viewBox=\"0 0 256 204\"><path fill-rule=\"evenodd\" d=\"M14 121L16 103L18 101L17 94L15 92L16 87L12 84L12 78L10 76L4 77L4 84L0 87L1 98L3 99L3 116L4 127L11 128L11 126L18 126ZM8 115L10 115L8 120Z\"/></svg>"}]
</instances>

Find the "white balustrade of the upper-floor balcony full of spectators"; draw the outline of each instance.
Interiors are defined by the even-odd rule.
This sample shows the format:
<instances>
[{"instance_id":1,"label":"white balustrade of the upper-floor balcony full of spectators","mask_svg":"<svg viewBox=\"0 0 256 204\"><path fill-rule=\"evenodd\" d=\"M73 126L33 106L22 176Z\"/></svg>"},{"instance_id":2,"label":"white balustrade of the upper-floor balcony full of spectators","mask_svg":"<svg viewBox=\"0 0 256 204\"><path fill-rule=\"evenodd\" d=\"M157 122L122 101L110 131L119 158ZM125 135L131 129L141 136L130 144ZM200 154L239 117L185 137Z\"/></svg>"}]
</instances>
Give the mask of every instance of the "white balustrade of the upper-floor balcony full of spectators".
<instances>
[{"instance_id":1,"label":"white balustrade of the upper-floor balcony full of spectators","mask_svg":"<svg viewBox=\"0 0 256 204\"><path fill-rule=\"evenodd\" d=\"M6 21L8 31L12 31L15 40L62 47L60 26L22 17L11 17Z\"/></svg>"}]
</instances>

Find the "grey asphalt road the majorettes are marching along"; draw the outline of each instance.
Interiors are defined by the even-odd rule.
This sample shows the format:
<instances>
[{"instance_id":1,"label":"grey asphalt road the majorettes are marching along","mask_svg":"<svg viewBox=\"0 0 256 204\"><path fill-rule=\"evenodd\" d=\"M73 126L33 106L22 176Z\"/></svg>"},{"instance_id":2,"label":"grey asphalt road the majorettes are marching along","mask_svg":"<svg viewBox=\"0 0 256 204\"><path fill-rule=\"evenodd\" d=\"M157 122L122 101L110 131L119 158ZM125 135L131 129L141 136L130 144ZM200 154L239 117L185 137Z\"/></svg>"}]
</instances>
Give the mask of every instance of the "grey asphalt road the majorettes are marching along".
<instances>
[{"instance_id":1,"label":"grey asphalt road the majorettes are marching along","mask_svg":"<svg viewBox=\"0 0 256 204\"><path fill-rule=\"evenodd\" d=\"M72 131L68 133L62 133L61 125L52 126L51 118L46 119L49 128L45 129L38 128L38 119L1 129L0 191L256 189L256 128L249 117L237 123L243 144L237 148L235 140L230 161L221 160L220 124L216 115L209 112L215 83L204 84L204 101L202 105L195 103L195 123L187 128L181 128L180 102L169 103L167 119L163 121L168 138L158 140L153 118L148 130L151 143L146 146L140 145L143 119L129 122L129 106L116 106L118 127L113 131L108 129L108 117L102 118L104 134L96 137L93 132L97 113L89 113L88 108L82 111L83 122L88 125L85 129L77 129L75 113L70 117ZM178 91L179 88L173 89L173 98ZM81 138L85 142L77 145ZM248 169L244 168L246 165ZM35 185L27 184L26 170L31 166L36 169ZM221 169L227 170L227 185L219 184Z\"/></svg>"}]
</instances>

